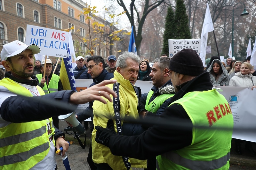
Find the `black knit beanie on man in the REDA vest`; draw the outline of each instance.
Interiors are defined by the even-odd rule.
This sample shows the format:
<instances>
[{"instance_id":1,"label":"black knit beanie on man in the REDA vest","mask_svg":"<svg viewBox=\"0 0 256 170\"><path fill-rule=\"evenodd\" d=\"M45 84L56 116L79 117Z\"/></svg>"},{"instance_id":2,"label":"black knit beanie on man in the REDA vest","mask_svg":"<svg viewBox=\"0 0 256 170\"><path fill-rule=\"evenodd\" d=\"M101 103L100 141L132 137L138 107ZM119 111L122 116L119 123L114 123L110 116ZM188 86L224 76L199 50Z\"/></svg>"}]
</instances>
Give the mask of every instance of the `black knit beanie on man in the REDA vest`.
<instances>
[{"instance_id":1,"label":"black knit beanie on man in the REDA vest","mask_svg":"<svg viewBox=\"0 0 256 170\"><path fill-rule=\"evenodd\" d=\"M193 49L183 49L170 60L169 69L180 74L199 76L204 73L201 58Z\"/></svg>"}]
</instances>

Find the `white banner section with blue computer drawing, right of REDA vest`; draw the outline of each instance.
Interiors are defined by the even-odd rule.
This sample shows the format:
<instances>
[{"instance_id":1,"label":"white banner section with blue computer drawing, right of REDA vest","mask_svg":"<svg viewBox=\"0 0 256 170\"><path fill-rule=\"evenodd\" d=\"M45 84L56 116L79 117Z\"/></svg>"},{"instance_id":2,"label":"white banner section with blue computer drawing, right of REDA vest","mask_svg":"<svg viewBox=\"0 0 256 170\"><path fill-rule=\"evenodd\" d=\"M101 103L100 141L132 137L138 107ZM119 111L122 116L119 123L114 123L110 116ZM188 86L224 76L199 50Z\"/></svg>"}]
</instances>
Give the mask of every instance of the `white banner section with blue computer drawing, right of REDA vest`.
<instances>
[{"instance_id":1,"label":"white banner section with blue computer drawing, right of REDA vest","mask_svg":"<svg viewBox=\"0 0 256 170\"><path fill-rule=\"evenodd\" d=\"M233 138L256 142L256 89L217 86L229 103L234 118Z\"/></svg>"}]
</instances>

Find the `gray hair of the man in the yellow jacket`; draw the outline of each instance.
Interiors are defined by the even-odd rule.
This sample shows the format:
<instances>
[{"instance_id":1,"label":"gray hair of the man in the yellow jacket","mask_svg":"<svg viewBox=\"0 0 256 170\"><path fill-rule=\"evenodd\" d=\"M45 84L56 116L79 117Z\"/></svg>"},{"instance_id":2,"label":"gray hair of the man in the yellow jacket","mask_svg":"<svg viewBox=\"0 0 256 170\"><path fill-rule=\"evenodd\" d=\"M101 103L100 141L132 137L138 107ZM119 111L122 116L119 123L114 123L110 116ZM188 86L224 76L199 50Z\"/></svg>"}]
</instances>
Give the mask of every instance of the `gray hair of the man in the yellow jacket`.
<instances>
[{"instance_id":1,"label":"gray hair of the man in the yellow jacket","mask_svg":"<svg viewBox=\"0 0 256 170\"><path fill-rule=\"evenodd\" d=\"M133 52L124 51L116 59L116 68L117 67L120 67L121 69L126 68L127 67L126 60L128 60L129 58L135 61L136 63L140 64L140 57L137 54Z\"/></svg>"}]
</instances>

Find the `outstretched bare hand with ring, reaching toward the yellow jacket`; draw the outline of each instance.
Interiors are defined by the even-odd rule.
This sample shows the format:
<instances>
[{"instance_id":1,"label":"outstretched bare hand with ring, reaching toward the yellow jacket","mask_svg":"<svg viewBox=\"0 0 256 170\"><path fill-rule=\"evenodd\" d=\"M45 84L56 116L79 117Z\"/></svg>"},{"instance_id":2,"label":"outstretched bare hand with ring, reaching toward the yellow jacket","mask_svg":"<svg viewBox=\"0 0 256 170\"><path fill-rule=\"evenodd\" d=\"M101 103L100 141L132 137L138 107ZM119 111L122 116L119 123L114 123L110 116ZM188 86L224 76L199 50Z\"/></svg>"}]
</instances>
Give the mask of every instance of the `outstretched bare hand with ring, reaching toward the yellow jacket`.
<instances>
[{"instance_id":1,"label":"outstretched bare hand with ring, reaching toward the yellow jacket","mask_svg":"<svg viewBox=\"0 0 256 170\"><path fill-rule=\"evenodd\" d=\"M101 96L112 102L110 94L112 94L114 97L117 97L116 93L105 85L114 83L116 83L116 80L104 80L101 83L93 85L92 87L81 92L75 92L71 94L69 101L73 104L84 104L89 101L99 100L102 103L107 104L107 102Z\"/></svg>"}]
</instances>

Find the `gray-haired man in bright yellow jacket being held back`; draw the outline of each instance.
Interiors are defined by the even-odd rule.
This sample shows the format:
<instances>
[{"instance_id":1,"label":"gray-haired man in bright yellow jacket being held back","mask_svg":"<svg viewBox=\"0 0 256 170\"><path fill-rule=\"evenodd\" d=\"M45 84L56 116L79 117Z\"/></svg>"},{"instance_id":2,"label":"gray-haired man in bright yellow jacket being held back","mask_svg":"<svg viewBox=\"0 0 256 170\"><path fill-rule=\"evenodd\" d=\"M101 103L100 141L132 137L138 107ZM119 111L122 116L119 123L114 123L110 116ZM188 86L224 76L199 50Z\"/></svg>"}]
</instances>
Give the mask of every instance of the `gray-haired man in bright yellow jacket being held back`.
<instances>
[{"instance_id":1,"label":"gray-haired man in bright yellow jacket being held back","mask_svg":"<svg viewBox=\"0 0 256 170\"><path fill-rule=\"evenodd\" d=\"M93 123L95 126L106 127L108 119L113 118L115 129L122 135L122 123L125 118L139 118L138 96L134 84L137 81L139 72L140 57L131 52L124 52L119 55L116 61L116 71L114 78L117 83L108 85L117 93L117 98L113 102L107 101L107 105L102 105L98 101L93 103ZM99 65L95 65L99 67ZM95 67L94 66L94 67ZM90 67L90 66L89 66ZM115 108L115 110L114 110ZM118 110L117 110L118 109ZM108 147L98 144L95 141L95 132L92 132L92 160L97 169L127 170L130 167L147 168L146 160L131 159L128 157L114 156Z\"/></svg>"}]
</instances>

